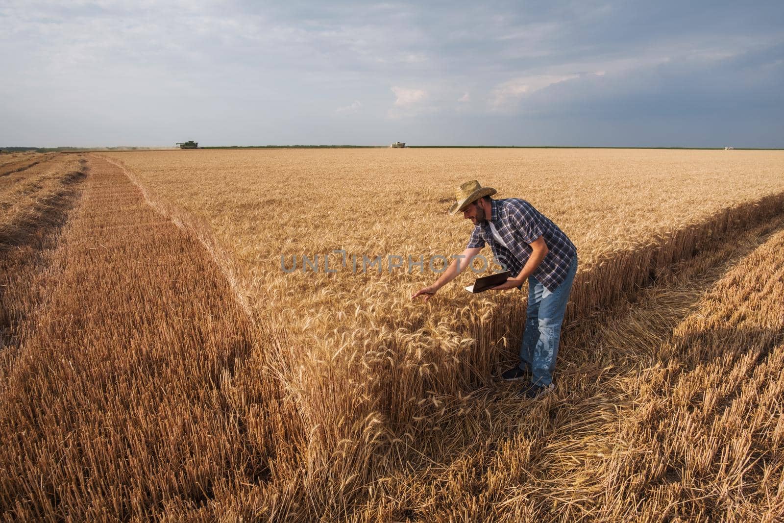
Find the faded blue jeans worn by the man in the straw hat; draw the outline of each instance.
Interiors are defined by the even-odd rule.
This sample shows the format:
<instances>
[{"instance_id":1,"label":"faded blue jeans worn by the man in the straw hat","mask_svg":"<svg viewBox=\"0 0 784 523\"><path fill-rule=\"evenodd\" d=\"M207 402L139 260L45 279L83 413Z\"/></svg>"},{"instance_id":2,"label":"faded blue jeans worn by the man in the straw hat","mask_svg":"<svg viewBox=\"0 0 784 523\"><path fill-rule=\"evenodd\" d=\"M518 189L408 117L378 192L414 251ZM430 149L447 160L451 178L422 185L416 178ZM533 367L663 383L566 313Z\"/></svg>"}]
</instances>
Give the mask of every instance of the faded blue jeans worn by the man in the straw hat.
<instances>
[{"instance_id":1,"label":"faded blue jeans worn by the man in the straw hat","mask_svg":"<svg viewBox=\"0 0 784 523\"><path fill-rule=\"evenodd\" d=\"M528 311L520 344L520 368L531 369L531 383L547 387L553 382L555 358L561 339L566 303L577 272L577 256L569 264L566 279L553 292L533 276L528 277Z\"/></svg>"}]
</instances>

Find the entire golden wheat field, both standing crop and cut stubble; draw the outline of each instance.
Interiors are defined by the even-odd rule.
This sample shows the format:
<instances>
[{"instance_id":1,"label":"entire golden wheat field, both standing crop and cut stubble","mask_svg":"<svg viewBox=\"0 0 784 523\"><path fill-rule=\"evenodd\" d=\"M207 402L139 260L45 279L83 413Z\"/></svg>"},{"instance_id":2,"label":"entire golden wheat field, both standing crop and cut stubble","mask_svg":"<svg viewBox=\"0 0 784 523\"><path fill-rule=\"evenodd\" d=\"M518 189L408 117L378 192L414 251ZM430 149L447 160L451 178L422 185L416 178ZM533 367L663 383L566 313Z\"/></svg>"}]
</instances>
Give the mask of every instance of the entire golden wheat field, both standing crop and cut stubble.
<instances>
[{"instance_id":1,"label":"entire golden wheat field, both standing crop and cut stubble","mask_svg":"<svg viewBox=\"0 0 784 523\"><path fill-rule=\"evenodd\" d=\"M784 514L780 151L45 159L13 176L67 187L46 208L67 221L32 242L3 204L7 519ZM579 252L542 401L496 381L525 294L470 296L463 274L409 300L437 274L407 260L463 250L470 223L446 209L471 179Z\"/></svg>"}]
</instances>

